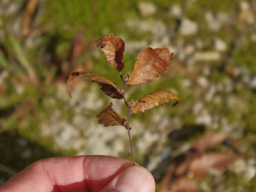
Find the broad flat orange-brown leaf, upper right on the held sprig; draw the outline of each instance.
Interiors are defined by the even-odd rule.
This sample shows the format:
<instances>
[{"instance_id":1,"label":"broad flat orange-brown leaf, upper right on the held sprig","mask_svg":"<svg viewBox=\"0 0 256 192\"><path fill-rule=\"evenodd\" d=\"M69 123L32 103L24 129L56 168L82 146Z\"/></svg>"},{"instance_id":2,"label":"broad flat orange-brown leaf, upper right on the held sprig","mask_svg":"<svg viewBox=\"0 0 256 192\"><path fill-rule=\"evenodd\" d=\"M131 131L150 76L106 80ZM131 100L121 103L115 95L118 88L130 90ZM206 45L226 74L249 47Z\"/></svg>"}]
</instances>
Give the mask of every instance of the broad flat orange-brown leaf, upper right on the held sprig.
<instances>
[{"instance_id":1,"label":"broad flat orange-brown leaf, upper right on the held sprig","mask_svg":"<svg viewBox=\"0 0 256 192\"><path fill-rule=\"evenodd\" d=\"M138 54L138 60L134 65L128 84L146 83L156 79L160 74L167 71L173 53L167 48L152 49L147 47Z\"/></svg>"}]
</instances>

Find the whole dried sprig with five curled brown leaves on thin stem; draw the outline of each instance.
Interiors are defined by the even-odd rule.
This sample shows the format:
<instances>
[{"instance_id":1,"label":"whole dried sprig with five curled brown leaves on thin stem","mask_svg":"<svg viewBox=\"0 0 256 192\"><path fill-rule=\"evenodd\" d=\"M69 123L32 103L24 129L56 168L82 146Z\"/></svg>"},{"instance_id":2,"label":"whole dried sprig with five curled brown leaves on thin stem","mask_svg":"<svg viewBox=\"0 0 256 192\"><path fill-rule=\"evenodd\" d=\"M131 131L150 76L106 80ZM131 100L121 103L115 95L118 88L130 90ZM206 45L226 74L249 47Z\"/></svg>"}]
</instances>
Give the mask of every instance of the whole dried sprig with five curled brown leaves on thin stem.
<instances>
[{"instance_id":1,"label":"whole dried sprig with five curled brown leaves on thin stem","mask_svg":"<svg viewBox=\"0 0 256 192\"><path fill-rule=\"evenodd\" d=\"M127 119L114 111L112 108L113 103L109 103L108 107L97 115L97 118L99 119L99 123L103 124L105 127L123 126L127 129L133 165L135 165L133 142L130 132L132 129L130 126L131 114L144 112L147 109L154 108L159 104L168 103L171 100L176 100L176 102L171 105L174 107L179 103L179 98L169 90L162 90L156 91L152 94L147 94L144 97L139 98L137 101L132 100L128 102L126 98L127 86L128 84L147 83L148 80L156 79L160 74L166 73L167 67L171 63L173 53L171 53L167 48L152 49L151 47L147 47L139 53L133 72L131 76L129 76L128 74L122 74L124 69L123 52L125 43L120 37L114 36L113 33L110 33L109 36L104 36L96 41L96 44L104 52L109 64L118 70L120 79L123 81L123 89L119 89L111 80L99 74L75 72L70 74L68 79L68 93L71 96L71 90L75 86L75 83L82 77L88 77L92 79L94 83L98 83L101 86L104 94L107 94L111 98L123 99L123 102L128 109Z\"/></svg>"}]
</instances>

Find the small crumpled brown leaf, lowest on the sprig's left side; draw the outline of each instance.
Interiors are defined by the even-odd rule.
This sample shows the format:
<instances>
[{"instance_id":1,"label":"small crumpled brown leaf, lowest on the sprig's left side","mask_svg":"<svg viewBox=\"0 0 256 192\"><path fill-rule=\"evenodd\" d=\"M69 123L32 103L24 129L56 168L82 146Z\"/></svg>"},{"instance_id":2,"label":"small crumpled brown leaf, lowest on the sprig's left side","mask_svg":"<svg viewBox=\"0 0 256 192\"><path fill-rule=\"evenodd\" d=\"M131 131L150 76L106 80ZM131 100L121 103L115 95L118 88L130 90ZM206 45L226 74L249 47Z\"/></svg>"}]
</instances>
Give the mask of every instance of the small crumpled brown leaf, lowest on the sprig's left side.
<instances>
[{"instance_id":1,"label":"small crumpled brown leaf, lowest on the sprig's left side","mask_svg":"<svg viewBox=\"0 0 256 192\"><path fill-rule=\"evenodd\" d=\"M122 118L121 115L114 112L112 107L113 103L109 103L109 106L99 113L99 115L97 115L97 118L99 118L99 123L103 124L105 127L125 126L125 118Z\"/></svg>"}]
</instances>

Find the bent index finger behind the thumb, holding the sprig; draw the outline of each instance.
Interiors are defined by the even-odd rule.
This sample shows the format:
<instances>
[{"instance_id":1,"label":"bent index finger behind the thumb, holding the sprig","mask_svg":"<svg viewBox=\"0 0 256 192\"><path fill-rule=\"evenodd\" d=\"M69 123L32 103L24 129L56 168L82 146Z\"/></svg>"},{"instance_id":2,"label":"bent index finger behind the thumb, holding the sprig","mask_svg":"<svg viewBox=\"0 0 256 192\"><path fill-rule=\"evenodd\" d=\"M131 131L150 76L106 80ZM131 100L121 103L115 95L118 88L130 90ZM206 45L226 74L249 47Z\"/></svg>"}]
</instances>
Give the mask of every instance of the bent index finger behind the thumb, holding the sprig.
<instances>
[{"instance_id":1,"label":"bent index finger behind the thumb, holding the sprig","mask_svg":"<svg viewBox=\"0 0 256 192\"><path fill-rule=\"evenodd\" d=\"M22 170L0 191L99 191L129 166L130 161L111 156L50 158Z\"/></svg>"}]
</instances>

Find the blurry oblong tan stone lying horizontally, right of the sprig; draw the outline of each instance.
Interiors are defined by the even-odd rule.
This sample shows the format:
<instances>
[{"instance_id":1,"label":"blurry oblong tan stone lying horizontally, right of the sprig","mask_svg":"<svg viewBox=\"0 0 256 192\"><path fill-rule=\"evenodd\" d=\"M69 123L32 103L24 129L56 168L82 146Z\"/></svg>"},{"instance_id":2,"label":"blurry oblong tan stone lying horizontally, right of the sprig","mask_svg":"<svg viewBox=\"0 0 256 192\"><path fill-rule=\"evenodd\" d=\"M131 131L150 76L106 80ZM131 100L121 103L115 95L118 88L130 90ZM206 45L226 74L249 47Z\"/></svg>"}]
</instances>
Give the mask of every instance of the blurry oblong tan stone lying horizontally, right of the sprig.
<instances>
[{"instance_id":1,"label":"blurry oblong tan stone lying horizontally, right of the sprig","mask_svg":"<svg viewBox=\"0 0 256 192\"><path fill-rule=\"evenodd\" d=\"M196 52L194 59L197 62L215 62L220 61L221 55L218 51L200 51Z\"/></svg>"}]
</instances>

